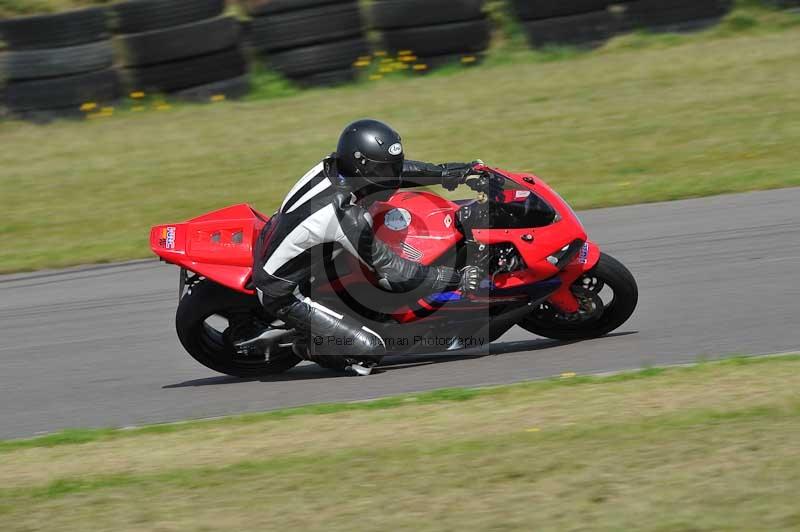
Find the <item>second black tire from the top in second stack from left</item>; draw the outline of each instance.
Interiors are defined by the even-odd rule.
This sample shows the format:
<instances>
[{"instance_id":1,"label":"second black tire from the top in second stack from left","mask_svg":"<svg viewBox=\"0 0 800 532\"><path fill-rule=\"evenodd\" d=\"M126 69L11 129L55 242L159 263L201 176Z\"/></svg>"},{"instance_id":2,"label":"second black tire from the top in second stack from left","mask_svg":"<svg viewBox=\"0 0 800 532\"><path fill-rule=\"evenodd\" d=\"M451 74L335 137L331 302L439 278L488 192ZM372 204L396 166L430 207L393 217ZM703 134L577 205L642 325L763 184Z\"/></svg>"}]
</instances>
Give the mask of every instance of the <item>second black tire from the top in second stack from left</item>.
<instances>
[{"instance_id":1,"label":"second black tire from the top in second stack from left","mask_svg":"<svg viewBox=\"0 0 800 532\"><path fill-rule=\"evenodd\" d=\"M239 22L219 17L116 39L122 66L145 66L206 55L236 46Z\"/></svg>"}]
</instances>

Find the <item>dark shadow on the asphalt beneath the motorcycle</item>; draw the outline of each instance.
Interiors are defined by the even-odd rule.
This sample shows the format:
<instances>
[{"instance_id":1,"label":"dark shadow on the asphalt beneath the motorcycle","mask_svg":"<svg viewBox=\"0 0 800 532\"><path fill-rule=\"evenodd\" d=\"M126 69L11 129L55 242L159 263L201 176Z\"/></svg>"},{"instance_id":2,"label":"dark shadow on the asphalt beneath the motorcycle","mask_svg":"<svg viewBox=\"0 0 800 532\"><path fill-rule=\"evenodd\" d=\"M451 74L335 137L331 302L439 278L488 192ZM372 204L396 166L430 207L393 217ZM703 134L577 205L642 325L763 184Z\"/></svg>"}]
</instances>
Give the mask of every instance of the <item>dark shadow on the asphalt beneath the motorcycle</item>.
<instances>
[{"instance_id":1,"label":"dark shadow on the asphalt beneath the motorcycle","mask_svg":"<svg viewBox=\"0 0 800 532\"><path fill-rule=\"evenodd\" d=\"M621 336L626 334L635 333L612 333L607 337ZM434 364L446 364L448 362L457 362L460 360L478 359L487 356L502 356L513 353L524 353L531 351L540 351L543 349L551 349L557 346L565 346L578 342L565 342L558 340L547 339L534 339L534 340L520 340L513 342L496 342L486 347L476 347L469 349L462 349L454 352L439 352L439 353L426 353L414 355L387 355L384 357L383 362L375 368L373 375L390 374L395 371L408 370L411 368L430 366ZM326 369L316 364L302 364L290 371L280 375L270 375L266 377L256 378L239 378L229 376L207 377L203 379L193 379L189 381L179 382L175 384L167 384L163 389L172 388L188 388L198 386L221 386L227 384L241 384L247 382L283 382L283 381L307 381L315 379L337 379L349 378L352 375ZM363 377L361 377L363 378ZM367 377L369 378L369 377Z\"/></svg>"}]
</instances>

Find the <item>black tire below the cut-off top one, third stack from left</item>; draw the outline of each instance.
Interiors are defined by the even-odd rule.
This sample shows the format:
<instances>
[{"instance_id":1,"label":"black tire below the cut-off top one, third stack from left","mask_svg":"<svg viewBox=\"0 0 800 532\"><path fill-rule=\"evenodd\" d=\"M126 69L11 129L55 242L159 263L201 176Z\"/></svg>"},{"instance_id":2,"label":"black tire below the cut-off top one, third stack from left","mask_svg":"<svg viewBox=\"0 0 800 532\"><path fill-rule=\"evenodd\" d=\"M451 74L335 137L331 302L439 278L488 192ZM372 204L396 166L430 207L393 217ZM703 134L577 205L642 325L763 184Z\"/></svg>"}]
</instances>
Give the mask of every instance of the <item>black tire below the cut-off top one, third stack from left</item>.
<instances>
[{"instance_id":1,"label":"black tire below the cut-off top one, third stack from left","mask_svg":"<svg viewBox=\"0 0 800 532\"><path fill-rule=\"evenodd\" d=\"M270 52L338 41L364 33L361 11L355 1L290 11L253 19L249 43Z\"/></svg>"}]
</instances>

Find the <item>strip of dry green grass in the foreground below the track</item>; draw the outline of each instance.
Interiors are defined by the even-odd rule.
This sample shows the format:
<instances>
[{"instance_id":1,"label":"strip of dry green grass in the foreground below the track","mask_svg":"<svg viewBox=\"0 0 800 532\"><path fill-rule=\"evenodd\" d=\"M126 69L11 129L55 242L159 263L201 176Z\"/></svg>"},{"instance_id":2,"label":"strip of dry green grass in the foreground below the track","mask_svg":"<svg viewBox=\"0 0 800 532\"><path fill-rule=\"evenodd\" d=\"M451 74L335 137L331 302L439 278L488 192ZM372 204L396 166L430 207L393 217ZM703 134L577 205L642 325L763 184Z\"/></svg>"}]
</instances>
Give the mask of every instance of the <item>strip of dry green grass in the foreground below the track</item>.
<instances>
[{"instance_id":1,"label":"strip of dry green grass in the foreground below the track","mask_svg":"<svg viewBox=\"0 0 800 532\"><path fill-rule=\"evenodd\" d=\"M9 531L794 530L798 370L799 356L741 358L6 446L0 520Z\"/></svg>"}]
</instances>

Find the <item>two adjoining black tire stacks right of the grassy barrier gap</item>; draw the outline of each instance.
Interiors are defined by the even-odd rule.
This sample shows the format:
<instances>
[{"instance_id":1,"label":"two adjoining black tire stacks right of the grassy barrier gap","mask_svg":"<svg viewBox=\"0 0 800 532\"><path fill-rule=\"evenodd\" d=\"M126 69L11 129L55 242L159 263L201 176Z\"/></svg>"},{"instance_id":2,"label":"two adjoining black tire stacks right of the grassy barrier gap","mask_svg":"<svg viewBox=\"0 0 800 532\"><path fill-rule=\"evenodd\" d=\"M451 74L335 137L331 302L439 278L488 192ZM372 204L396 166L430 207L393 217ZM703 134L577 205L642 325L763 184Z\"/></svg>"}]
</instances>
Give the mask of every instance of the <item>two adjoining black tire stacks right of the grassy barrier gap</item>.
<instances>
[{"instance_id":1,"label":"two adjoining black tire stacks right of the grassy barrier gap","mask_svg":"<svg viewBox=\"0 0 800 532\"><path fill-rule=\"evenodd\" d=\"M546 45L595 46L620 33L685 31L717 22L729 0L513 0L528 40Z\"/></svg>"}]
</instances>

